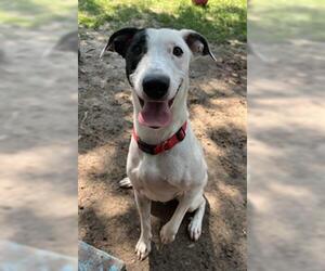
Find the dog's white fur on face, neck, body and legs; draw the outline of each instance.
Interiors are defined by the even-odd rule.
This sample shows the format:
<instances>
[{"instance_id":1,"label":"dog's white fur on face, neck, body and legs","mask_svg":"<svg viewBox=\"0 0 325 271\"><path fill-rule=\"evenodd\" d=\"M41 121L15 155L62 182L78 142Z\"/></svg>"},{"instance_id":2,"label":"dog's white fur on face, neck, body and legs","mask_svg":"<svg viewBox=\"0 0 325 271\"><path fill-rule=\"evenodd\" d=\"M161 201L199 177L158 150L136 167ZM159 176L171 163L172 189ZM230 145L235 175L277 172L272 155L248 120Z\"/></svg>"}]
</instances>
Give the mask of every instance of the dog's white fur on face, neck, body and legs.
<instances>
[{"instance_id":1,"label":"dog's white fur on face, neck, body and legs","mask_svg":"<svg viewBox=\"0 0 325 271\"><path fill-rule=\"evenodd\" d=\"M207 165L203 150L195 138L186 106L188 66L192 52L183 39L183 31L172 29L148 29L148 51L131 75L133 85L134 128L138 136L148 144L158 144L187 120L186 137L173 149L151 155L142 152L132 138L128 154L127 175L134 189L135 202L141 219L141 236L135 247L140 259L151 250L151 201L168 202L177 198L179 205L161 231L162 243L172 242L186 211L196 210L188 225L190 236L197 240L202 232L205 211L204 188L207 183ZM172 54L174 46L183 50L182 57ZM168 99L174 95L170 125L159 129L142 126L138 121L141 111L139 98L143 98L142 79L147 74L164 74L170 78ZM179 86L181 88L178 91ZM123 180L126 183L126 180ZM128 183L127 183L128 184Z\"/></svg>"}]
</instances>

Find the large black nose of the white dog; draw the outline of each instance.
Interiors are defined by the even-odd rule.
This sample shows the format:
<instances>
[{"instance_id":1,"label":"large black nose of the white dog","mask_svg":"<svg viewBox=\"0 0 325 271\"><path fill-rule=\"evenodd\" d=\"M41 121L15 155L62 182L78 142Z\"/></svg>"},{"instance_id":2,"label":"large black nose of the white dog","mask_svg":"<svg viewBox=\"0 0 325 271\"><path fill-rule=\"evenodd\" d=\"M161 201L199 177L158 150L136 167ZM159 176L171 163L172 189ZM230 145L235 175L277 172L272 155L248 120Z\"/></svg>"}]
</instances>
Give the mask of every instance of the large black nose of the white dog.
<instances>
[{"instance_id":1,"label":"large black nose of the white dog","mask_svg":"<svg viewBox=\"0 0 325 271\"><path fill-rule=\"evenodd\" d=\"M144 93L153 100L162 99L169 89L169 78L165 75L150 75L143 78Z\"/></svg>"}]
</instances>

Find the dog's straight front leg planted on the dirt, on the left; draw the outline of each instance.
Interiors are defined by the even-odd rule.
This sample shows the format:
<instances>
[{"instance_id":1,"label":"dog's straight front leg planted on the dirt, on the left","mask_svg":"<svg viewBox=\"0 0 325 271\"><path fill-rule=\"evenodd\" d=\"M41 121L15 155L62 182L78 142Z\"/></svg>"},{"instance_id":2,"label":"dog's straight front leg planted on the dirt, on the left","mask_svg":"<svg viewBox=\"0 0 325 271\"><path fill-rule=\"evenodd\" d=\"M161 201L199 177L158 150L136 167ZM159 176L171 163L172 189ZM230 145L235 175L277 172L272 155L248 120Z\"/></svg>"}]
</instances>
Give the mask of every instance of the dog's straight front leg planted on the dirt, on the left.
<instances>
[{"instance_id":1,"label":"dog's straight front leg planted on the dirt, on the left","mask_svg":"<svg viewBox=\"0 0 325 271\"><path fill-rule=\"evenodd\" d=\"M135 203L138 206L141 235L135 246L135 253L140 260L143 260L151 251L152 227L151 227L151 206L152 202L139 191L134 190Z\"/></svg>"}]
</instances>

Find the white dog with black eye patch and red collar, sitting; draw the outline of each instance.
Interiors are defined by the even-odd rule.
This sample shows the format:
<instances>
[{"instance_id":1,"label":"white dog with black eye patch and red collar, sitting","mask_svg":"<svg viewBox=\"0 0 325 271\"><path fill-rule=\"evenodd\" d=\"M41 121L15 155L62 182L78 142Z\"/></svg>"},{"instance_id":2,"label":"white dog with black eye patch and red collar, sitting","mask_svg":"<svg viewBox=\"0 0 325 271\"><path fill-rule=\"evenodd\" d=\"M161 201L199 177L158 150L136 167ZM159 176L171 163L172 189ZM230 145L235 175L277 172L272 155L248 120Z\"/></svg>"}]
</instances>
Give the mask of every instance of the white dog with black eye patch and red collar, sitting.
<instances>
[{"instance_id":1,"label":"white dog with black eye patch and red collar, sitting","mask_svg":"<svg viewBox=\"0 0 325 271\"><path fill-rule=\"evenodd\" d=\"M188 120L188 68L196 56L216 59L206 38L188 29L123 28L110 36L101 57L106 51L125 59L132 88L133 136L128 177L120 184L134 190L141 221L135 253L142 260L151 251L152 201L179 202L160 230L162 244L174 240L187 211L195 211L188 224L191 238L197 241L202 234L208 173Z\"/></svg>"}]
</instances>

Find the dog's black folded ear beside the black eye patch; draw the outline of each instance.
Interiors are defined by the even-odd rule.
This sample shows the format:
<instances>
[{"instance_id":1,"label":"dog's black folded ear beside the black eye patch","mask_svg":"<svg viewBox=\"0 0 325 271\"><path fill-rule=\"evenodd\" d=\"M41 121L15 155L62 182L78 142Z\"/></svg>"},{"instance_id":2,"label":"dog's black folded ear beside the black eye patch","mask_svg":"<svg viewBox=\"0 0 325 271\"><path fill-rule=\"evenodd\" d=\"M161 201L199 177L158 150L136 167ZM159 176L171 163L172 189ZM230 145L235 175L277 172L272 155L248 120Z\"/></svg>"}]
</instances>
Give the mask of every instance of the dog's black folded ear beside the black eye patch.
<instances>
[{"instance_id":1,"label":"dog's black folded ear beside the black eye patch","mask_svg":"<svg viewBox=\"0 0 325 271\"><path fill-rule=\"evenodd\" d=\"M127 50L138 31L138 28L128 27L114 33L108 39L105 48L102 50L100 59L103 57L106 51L117 52L122 57L126 57Z\"/></svg>"}]
</instances>

